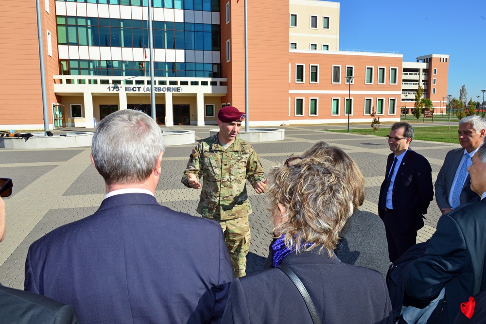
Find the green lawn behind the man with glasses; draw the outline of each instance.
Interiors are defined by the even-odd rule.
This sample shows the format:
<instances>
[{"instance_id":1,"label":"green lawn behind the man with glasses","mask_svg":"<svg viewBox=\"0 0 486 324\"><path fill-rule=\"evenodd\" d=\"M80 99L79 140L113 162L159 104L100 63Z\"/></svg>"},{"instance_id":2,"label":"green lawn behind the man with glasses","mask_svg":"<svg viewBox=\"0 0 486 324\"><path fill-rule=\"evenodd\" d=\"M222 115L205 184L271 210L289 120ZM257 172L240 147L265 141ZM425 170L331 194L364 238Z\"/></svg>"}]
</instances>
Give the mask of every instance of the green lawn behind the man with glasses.
<instances>
[{"instance_id":1,"label":"green lawn behind the man with glasses","mask_svg":"<svg viewBox=\"0 0 486 324\"><path fill-rule=\"evenodd\" d=\"M346 129L328 130L328 132L346 133ZM389 128L378 129L373 132L371 126L366 129L350 129L349 133L374 135L384 137L390 133ZM433 142L445 142L445 143L458 143L457 139L457 126L451 126L451 129L447 129L447 126L431 126L431 127L415 127L414 139L427 140Z\"/></svg>"}]
</instances>

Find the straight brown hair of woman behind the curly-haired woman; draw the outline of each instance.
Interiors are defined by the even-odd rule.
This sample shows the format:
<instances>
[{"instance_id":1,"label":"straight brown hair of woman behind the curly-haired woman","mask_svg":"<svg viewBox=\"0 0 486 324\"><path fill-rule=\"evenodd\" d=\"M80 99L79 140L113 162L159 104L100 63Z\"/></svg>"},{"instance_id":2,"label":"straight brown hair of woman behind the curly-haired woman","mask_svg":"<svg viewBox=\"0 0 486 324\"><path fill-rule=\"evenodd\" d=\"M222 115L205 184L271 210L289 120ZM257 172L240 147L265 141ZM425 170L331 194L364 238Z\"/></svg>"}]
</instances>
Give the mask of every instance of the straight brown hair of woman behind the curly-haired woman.
<instances>
[{"instance_id":1,"label":"straight brown hair of woman behind the curly-haired woman","mask_svg":"<svg viewBox=\"0 0 486 324\"><path fill-rule=\"evenodd\" d=\"M353 207L358 209L364 203L364 176L351 156L337 146L319 141L302 153L302 157L315 156L330 162L344 176L353 195Z\"/></svg>"}]
</instances>

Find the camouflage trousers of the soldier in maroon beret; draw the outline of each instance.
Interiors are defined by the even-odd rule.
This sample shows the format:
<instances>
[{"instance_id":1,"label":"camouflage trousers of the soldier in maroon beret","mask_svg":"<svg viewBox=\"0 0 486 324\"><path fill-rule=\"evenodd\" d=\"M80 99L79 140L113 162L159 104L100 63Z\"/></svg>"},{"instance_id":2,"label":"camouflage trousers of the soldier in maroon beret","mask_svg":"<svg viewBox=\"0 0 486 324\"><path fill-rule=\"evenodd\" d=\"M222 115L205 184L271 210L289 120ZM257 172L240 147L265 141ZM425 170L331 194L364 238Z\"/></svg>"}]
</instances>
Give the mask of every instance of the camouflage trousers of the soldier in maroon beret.
<instances>
[{"instance_id":1,"label":"camouflage trousers of the soldier in maroon beret","mask_svg":"<svg viewBox=\"0 0 486 324\"><path fill-rule=\"evenodd\" d=\"M223 234L225 235L235 277L243 277L246 274L246 255L250 250L250 224L248 223L248 216L217 222L220 223Z\"/></svg>"}]
</instances>

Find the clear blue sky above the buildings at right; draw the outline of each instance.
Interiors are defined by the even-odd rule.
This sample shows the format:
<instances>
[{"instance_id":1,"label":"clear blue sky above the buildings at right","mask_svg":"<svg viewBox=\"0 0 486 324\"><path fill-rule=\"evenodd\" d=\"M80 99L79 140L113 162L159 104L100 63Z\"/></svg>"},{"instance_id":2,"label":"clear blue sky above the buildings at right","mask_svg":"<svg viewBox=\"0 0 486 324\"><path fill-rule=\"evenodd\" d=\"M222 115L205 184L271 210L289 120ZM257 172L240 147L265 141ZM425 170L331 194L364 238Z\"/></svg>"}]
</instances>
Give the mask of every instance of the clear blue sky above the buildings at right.
<instances>
[{"instance_id":1,"label":"clear blue sky above the buildings at right","mask_svg":"<svg viewBox=\"0 0 486 324\"><path fill-rule=\"evenodd\" d=\"M449 54L447 94L483 100L486 89L486 0L386 1L340 3L340 49L397 51L403 61ZM469 98L468 98L469 101ZM486 101L486 96L485 96Z\"/></svg>"}]
</instances>

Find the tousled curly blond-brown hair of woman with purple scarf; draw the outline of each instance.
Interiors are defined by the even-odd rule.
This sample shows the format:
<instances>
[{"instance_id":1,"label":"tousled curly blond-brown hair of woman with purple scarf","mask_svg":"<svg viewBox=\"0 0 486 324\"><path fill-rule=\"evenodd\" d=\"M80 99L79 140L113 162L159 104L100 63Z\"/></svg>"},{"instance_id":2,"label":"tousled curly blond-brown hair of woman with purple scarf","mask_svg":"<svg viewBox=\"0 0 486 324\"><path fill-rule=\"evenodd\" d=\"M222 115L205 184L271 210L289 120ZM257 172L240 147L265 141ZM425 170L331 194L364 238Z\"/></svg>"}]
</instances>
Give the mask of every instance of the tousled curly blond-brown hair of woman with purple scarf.
<instances>
[{"instance_id":1,"label":"tousled curly blond-brown hair of woman with purple scarf","mask_svg":"<svg viewBox=\"0 0 486 324\"><path fill-rule=\"evenodd\" d=\"M345 178L333 165L316 157L275 167L268 199L274 217L278 203L285 207L284 222L274 233L297 252L314 248L330 255L339 232L353 213L352 196Z\"/></svg>"}]
</instances>

